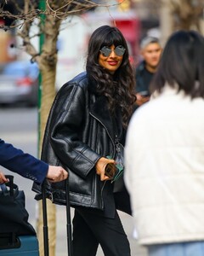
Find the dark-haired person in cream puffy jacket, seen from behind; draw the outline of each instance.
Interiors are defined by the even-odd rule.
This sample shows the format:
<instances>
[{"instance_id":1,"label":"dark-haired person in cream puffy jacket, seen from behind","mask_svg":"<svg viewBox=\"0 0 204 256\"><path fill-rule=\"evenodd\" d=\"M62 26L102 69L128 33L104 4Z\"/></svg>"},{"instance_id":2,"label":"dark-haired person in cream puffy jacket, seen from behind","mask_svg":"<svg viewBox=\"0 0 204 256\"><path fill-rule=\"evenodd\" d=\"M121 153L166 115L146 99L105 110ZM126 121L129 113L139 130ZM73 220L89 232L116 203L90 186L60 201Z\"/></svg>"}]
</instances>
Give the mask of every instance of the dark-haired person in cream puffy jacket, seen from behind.
<instances>
[{"instance_id":1,"label":"dark-haired person in cream puffy jacket, seen from behind","mask_svg":"<svg viewBox=\"0 0 204 256\"><path fill-rule=\"evenodd\" d=\"M127 131L125 182L150 256L204 255L204 38L168 39Z\"/></svg>"}]
</instances>

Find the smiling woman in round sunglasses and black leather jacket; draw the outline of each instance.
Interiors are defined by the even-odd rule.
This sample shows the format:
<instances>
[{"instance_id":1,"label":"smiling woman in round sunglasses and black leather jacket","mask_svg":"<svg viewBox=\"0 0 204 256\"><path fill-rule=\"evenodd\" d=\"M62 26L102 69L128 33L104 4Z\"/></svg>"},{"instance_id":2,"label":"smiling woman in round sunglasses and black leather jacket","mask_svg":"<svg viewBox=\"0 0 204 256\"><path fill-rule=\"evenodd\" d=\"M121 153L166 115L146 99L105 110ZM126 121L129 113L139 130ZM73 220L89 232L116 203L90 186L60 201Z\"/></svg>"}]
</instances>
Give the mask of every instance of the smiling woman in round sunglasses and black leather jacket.
<instances>
[{"instance_id":1,"label":"smiling woman in round sunglasses and black leather jacket","mask_svg":"<svg viewBox=\"0 0 204 256\"><path fill-rule=\"evenodd\" d=\"M88 44L87 72L63 85L49 114L42 160L69 172L74 256L94 256L99 244L105 256L130 255L116 212L131 213L127 190L113 193L105 175L105 166L116 163L116 146L124 145L135 102L128 58L122 33L99 27ZM64 182L49 190L55 203L65 204Z\"/></svg>"}]
</instances>

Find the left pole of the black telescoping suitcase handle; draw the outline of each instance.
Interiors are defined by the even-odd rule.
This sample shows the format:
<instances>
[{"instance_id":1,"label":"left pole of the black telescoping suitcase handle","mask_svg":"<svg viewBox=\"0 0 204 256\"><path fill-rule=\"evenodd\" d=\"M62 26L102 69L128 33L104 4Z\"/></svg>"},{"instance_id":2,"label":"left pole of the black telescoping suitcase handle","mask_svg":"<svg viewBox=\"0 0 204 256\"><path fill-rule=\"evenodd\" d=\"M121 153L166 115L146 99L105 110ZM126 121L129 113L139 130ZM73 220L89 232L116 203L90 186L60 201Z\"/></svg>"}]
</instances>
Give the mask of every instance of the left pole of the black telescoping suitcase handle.
<instances>
[{"instance_id":1,"label":"left pole of the black telescoping suitcase handle","mask_svg":"<svg viewBox=\"0 0 204 256\"><path fill-rule=\"evenodd\" d=\"M42 183L42 217L43 217L44 256L49 256L49 248L48 248L48 218L47 218L47 202L46 202L45 181Z\"/></svg>"}]
</instances>

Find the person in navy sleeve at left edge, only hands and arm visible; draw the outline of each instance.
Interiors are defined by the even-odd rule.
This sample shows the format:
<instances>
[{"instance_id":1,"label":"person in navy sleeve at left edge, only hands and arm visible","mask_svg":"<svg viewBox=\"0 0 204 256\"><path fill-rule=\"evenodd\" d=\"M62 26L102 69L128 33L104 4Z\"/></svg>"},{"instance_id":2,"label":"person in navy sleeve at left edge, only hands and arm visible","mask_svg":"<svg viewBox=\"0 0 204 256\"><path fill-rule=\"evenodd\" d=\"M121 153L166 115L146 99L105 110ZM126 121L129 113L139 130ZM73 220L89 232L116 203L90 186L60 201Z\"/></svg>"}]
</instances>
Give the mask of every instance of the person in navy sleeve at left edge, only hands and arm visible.
<instances>
[{"instance_id":1,"label":"person in navy sleeve at left edge, only hands and arm visible","mask_svg":"<svg viewBox=\"0 0 204 256\"><path fill-rule=\"evenodd\" d=\"M42 183L45 177L50 182L59 182L68 177L68 173L61 166L48 166L42 160L37 160L31 154L26 154L12 144L0 139L0 166L37 183ZM3 172L0 172L0 183L8 182Z\"/></svg>"}]
</instances>

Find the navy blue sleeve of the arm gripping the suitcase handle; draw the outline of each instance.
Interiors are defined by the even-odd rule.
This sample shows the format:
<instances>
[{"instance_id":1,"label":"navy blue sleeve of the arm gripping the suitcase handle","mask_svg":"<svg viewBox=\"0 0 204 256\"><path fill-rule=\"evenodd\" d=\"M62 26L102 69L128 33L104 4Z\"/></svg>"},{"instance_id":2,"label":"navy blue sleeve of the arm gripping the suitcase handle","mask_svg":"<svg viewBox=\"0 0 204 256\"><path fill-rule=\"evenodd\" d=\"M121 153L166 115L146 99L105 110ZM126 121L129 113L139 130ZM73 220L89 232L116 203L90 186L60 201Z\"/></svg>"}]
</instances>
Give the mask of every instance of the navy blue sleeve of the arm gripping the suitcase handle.
<instances>
[{"instance_id":1,"label":"navy blue sleeve of the arm gripping the suitcase handle","mask_svg":"<svg viewBox=\"0 0 204 256\"><path fill-rule=\"evenodd\" d=\"M37 183L42 183L48 172L48 164L14 148L12 144L5 143L2 139L0 139L0 165Z\"/></svg>"}]
</instances>

